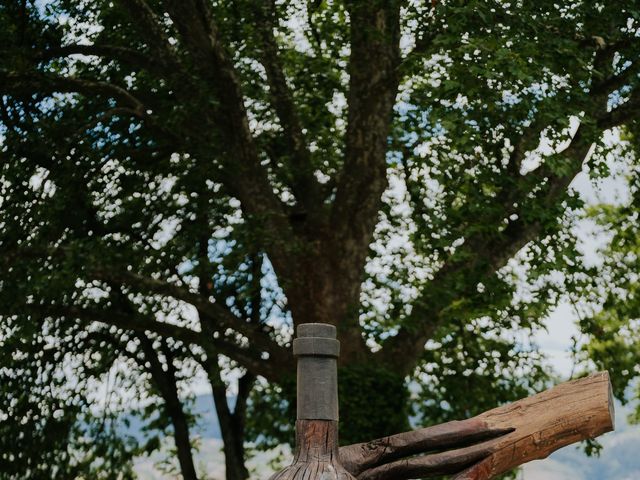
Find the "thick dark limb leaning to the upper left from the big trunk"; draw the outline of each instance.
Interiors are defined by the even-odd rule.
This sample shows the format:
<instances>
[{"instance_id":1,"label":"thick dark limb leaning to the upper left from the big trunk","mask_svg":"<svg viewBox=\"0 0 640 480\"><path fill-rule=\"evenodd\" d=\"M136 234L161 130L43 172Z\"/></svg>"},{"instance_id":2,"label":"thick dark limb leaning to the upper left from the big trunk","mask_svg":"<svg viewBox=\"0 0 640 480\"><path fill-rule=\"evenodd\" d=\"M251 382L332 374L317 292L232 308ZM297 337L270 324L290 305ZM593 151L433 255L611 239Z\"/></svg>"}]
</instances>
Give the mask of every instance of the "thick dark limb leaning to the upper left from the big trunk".
<instances>
[{"instance_id":1,"label":"thick dark limb leaning to the upper left from the big trunk","mask_svg":"<svg viewBox=\"0 0 640 480\"><path fill-rule=\"evenodd\" d=\"M225 184L240 200L247 217L256 220L256 225L264 225L264 232L278 232L263 236L264 248L278 274L291 279L297 269L290 254L291 239L295 236L284 204L273 191L267 169L260 162L244 105L242 82L213 20L211 7L202 0L171 0L167 2L167 10L198 73L211 85L217 100L213 122L225 140L222 145L226 157Z\"/></svg>"}]
</instances>

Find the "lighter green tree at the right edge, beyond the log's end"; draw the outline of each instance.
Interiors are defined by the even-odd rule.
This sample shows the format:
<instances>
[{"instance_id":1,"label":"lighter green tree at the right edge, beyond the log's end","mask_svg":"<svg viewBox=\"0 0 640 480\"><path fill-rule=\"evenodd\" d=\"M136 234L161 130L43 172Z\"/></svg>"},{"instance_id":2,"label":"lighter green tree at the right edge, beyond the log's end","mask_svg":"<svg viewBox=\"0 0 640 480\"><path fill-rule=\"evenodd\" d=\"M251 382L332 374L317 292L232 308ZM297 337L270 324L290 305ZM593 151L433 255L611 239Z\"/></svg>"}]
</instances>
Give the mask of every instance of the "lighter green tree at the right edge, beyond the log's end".
<instances>
[{"instance_id":1,"label":"lighter green tree at the right edge, beyond the log's end","mask_svg":"<svg viewBox=\"0 0 640 480\"><path fill-rule=\"evenodd\" d=\"M637 125L625 135L625 142L637 149ZM579 364L589 368L607 364L611 370L614 393L623 403L640 397L638 359L640 358L640 304L638 303L638 202L640 177L637 165L629 165L628 190L617 204L602 204L587 212L603 229L607 241L601 246L602 259L598 275L585 286L590 298L580 318L582 342L577 345ZM605 285L614 288L604 288ZM640 405L630 420L640 421Z\"/></svg>"}]
</instances>

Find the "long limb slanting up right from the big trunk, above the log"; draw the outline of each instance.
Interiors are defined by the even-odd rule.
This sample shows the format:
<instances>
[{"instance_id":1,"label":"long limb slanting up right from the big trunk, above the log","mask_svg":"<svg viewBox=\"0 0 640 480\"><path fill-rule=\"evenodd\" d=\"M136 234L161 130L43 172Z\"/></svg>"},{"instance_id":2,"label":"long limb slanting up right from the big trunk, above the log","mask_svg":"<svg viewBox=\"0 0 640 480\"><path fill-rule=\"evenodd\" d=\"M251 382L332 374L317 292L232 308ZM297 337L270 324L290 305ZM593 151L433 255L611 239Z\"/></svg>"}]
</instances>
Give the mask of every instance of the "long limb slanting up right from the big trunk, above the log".
<instances>
[{"instance_id":1,"label":"long limb slanting up right from the big trunk, above the log","mask_svg":"<svg viewBox=\"0 0 640 480\"><path fill-rule=\"evenodd\" d=\"M541 234L543 224L527 218L524 209L531 208L532 201L538 206L551 206L557 205L564 198L569 184L582 170L597 133L602 131L600 125L594 128L588 121L602 115L599 112L606 110L606 101L606 95L593 96L590 110L584 113L582 124L578 126L569 145L558 153L566 159L565 172L557 173L544 163L527 175L511 172L512 175L519 175L518 183L513 189L498 196L497 204L501 207L501 214L496 218L509 219L515 214L517 219L509 219L507 227L500 232L487 234L480 231L465 238L465 243L460 248L469 255L463 260L457 260L456 257L445 260L429 285L423 289L398 334L389 338L378 353L383 361L407 373L439 325L441 312L456 298L474 293L474 282L466 282L461 290L456 286L455 279L463 274L470 276L472 272L476 276L482 274L485 278L494 275L509 258ZM531 128L532 132L539 135L542 127L535 123ZM525 148L516 149L511 162L519 161L525 151ZM531 200L529 197L539 186L543 188L535 192L535 199ZM487 219L479 221L486 222ZM437 285L436 290L430 288L430 285Z\"/></svg>"}]
</instances>

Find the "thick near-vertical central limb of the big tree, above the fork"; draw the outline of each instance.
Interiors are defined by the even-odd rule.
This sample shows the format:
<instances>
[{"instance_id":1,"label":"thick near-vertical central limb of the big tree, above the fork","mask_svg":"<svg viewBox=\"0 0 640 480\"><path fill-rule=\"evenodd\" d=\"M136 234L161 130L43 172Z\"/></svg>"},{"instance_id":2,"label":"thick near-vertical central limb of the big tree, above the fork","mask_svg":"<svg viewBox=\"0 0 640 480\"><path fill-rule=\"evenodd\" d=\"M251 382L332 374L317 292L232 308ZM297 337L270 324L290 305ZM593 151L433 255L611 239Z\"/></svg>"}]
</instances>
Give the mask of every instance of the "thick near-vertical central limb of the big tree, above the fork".
<instances>
[{"instance_id":1,"label":"thick near-vertical central limb of the big tree, above the fork","mask_svg":"<svg viewBox=\"0 0 640 480\"><path fill-rule=\"evenodd\" d=\"M348 124L332 225L341 248L366 248L387 185L386 152L400 60L399 2L349 2ZM362 252L344 252L355 254Z\"/></svg>"}]
</instances>

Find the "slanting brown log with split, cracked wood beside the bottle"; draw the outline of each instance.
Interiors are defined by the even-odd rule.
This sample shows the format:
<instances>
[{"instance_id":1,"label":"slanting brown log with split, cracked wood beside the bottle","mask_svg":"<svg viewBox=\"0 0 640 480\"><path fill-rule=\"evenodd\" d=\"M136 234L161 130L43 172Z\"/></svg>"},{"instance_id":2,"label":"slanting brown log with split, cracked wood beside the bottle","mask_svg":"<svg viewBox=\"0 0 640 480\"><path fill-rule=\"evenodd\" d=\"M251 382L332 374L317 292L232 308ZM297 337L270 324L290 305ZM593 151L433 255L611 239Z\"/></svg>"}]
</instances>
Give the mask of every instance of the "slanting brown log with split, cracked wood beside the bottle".
<instances>
[{"instance_id":1,"label":"slanting brown log with split, cracked wood beside the bottle","mask_svg":"<svg viewBox=\"0 0 640 480\"><path fill-rule=\"evenodd\" d=\"M609 374L600 372L468 420L342 447L340 459L358 480L488 480L613 428Z\"/></svg>"}]
</instances>

